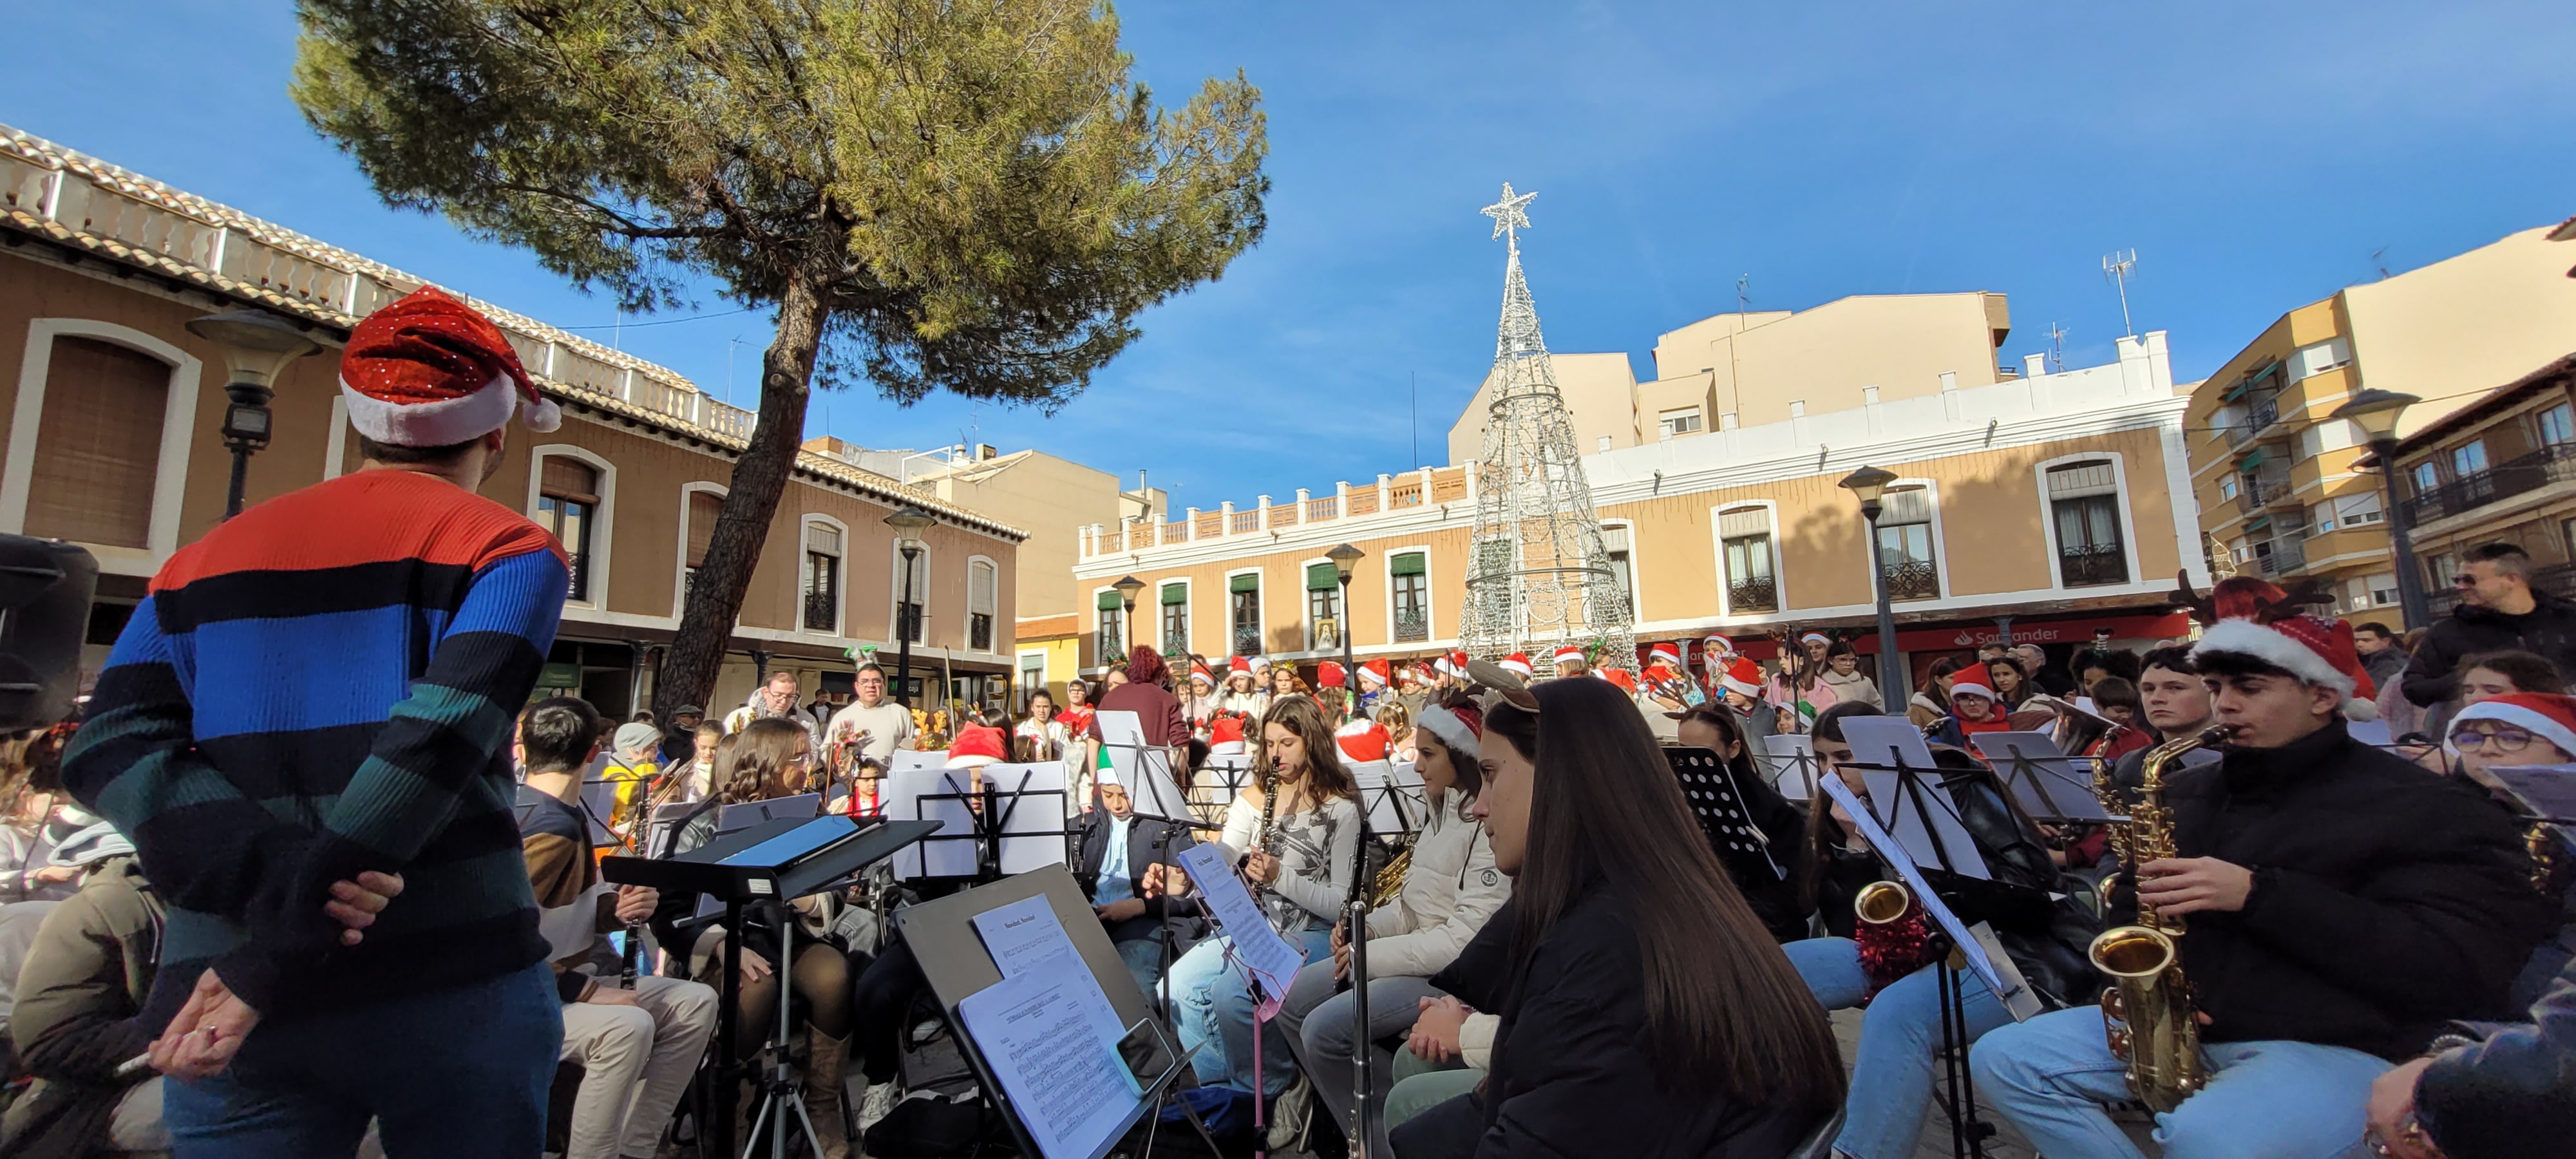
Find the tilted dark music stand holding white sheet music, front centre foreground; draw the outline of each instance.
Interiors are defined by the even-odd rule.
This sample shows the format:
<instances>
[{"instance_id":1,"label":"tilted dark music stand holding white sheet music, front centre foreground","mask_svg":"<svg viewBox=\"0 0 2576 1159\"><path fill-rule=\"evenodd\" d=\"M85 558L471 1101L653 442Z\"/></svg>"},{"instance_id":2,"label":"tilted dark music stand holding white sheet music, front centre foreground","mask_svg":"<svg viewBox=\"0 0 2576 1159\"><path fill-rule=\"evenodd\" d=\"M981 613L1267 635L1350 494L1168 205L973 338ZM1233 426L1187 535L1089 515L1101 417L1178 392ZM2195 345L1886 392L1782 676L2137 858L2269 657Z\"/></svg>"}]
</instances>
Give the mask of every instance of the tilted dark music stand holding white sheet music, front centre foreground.
<instances>
[{"instance_id":1,"label":"tilted dark music stand holding white sheet music, front centre foreground","mask_svg":"<svg viewBox=\"0 0 2576 1159\"><path fill-rule=\"evenodd\" d=\"M976 1077L976 1087L984 1092L987 1105L1002 1113L1010 1128L1012 1144L1023 1156L1030 1159L1100 1159L1110 1146L1123 1138L1123 1133L1141 1118L1149 1107L1159 1107L1162 1100L1177 1084L1182 1066L1172 1066L1151 1087L1136 1095L1136 1105L1126 1107L1123 1126L1113 1133L1097 1151L1087 1156L1066 1156L1041 1146L1020 1115L1020 1107L1002 1089L992 1061L984 1056L984 1046L966 1030L966 1020L958 1015L958 1004L969 997L1002 981L1002 968L994 966L981 935L976 932L976 914L999 909L1012 901L1043 896L1046 907L1054 909L1056 922L1064 925L1064 935L1074 945L1074 956L1090 971L1092 981L1108 997L1110 1010L1118 1015L1118 1025L1136 1028L1139 1022L1159 1028L1146 1010L1146 997L1136 989L1136 979L1128 974L1126 963L1118 958L1118 948L1110 943L1108 930L1092 917L1090 899L1082 896L1082 886L1074 883L1072 871L1064 865L1046 865L1030 873L1018 873L994 883L966 889L938 901L920 901L904 907L894 914L894 925L902 930L904 943L912 945L914 958L922 963L922 979L930 984L930 994L940 1004L940 1017L948 1022L948 1033L956 1038L958 1053ZM1164 1043L1172 1059L1180 1059L1177 1043ZM1188 1107L1188 1102L1182 1102ZM1188 1110L1185 1110L1188 1113ZM1198 1123L1195 1113L1188 1113L1190 1123L1198 1126L1206 1138L1206 1126ZM1206 1138L1208 1149L1216 1149L1213 1138Z\"/></svg>"}]
</instances>

